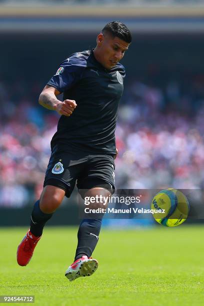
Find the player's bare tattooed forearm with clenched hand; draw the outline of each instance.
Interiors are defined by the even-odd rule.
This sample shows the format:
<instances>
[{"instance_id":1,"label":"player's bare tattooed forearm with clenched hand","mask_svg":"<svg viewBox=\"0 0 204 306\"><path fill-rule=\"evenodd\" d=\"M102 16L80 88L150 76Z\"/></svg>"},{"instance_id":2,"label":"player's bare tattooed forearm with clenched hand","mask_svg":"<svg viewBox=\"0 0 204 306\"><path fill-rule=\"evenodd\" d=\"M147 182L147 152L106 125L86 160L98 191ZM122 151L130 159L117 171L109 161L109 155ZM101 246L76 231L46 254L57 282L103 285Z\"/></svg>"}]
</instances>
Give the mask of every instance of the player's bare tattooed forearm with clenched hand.
<instances>
[{"instance_id":1,"label":"player's bare tattooed forearm with clenched hand","mask_svg":"<svg viewBox=\"0 0 204 306\"><path fill-rule=\"evenodd\" d=\"M70 116L76 107L76 102L68 99L60 101L56 98L58 94L60 92L56 88L46 85L39 95L39 104L61 115Z\"/></svg>"}]
</instances>

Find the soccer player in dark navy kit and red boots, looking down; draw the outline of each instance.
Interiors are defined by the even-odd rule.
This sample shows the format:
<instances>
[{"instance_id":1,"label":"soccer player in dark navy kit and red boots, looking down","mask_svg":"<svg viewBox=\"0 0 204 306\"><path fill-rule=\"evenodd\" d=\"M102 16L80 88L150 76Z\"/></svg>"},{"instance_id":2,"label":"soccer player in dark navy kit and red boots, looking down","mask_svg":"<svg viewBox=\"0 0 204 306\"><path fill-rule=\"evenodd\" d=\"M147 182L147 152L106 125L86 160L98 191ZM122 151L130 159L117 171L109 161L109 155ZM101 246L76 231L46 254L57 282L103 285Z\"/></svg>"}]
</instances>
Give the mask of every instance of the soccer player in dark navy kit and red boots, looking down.
<instances>
[{"instance_id":1,"label":"soccer player in dark navy kit and red boots, looking down","mask_svg":"<svg viewBox=\"0 0 204 306\"><path fill-rule=\"evenodd\" d=\"M43 190L33 206L30 229L17 248L17 262L32 257L44 224L69 197L75 182L81 196L110 196L114 192L114 131L123 91L124 67L119 63L131 42L120 21L107 23L93 50L73 53L59 66L39 96L39 103L61 116L51 140L51 156ZM63 92L63 101L57 95ZM89 208L95 207L95 203ZM65 276L71 281L89 276L98 262L91 254L98 241L101 218L84 218L78 228L74 262Z\"/></svg>"}]
</instances>

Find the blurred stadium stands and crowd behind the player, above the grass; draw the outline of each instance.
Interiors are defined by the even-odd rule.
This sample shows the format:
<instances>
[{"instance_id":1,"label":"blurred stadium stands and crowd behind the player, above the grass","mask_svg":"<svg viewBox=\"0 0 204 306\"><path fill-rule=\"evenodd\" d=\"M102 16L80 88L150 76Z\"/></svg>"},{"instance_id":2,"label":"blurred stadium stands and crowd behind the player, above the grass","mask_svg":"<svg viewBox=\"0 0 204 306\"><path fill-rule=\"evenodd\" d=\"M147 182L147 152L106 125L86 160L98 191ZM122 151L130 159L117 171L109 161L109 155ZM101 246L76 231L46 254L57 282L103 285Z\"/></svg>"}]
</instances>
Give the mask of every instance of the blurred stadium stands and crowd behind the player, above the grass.
<instances>
[{"instance_id":1,"label":"blurred stadium stands and crowd behind the player, above the grass","mask_svg":"<svg viewBox=\"0 0 204 306\"><path fill-rule=\"evenodd\" d=\"M116 187L203 189L202 1L0 1L0 225L28 225L41 192L58 120L38 104L41 89L111 20L133 34L122 59ZM75 190L49 224L76 224L76 202Z\"/></svg>"}]
</instances>

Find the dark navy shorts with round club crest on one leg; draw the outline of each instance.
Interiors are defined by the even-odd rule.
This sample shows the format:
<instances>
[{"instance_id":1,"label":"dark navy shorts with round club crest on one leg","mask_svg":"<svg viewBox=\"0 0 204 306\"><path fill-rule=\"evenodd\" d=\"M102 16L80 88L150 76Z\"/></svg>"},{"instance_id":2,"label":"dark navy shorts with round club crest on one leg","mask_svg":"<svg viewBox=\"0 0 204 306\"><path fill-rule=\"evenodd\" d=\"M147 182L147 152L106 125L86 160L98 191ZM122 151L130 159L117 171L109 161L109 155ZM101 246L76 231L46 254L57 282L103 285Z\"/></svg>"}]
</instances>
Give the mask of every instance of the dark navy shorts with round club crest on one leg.
<instances>
[{"instance_id":1,"label":"dark navy shorts with round club crest on one leg","mask_svg":"<svg viewBox=\"0 0 204 306\"><path fill-rule=\"evenodd\" d=\"M114 193L114 157L108 154L88 154L71 149L64 151L53 147L43 187L52 185L65 191L69 197L75 183L80 192L93 187L103 187ZM82 195L82 194L81 194Z\"/></svg>"}]
</instances>

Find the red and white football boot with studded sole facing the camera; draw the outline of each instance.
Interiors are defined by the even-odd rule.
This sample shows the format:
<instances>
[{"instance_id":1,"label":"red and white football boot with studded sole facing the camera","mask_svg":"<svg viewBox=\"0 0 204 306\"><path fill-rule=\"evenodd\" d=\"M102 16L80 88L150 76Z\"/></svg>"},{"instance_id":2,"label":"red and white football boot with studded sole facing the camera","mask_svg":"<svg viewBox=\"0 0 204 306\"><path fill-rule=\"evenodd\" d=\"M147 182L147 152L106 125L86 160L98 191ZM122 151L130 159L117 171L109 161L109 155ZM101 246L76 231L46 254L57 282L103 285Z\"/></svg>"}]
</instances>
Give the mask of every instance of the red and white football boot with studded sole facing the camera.
<instances>
[{"instance_id":1,"label":"red and white football boot with studded sole facing the camera","mask_svg":"<svg viewBox=\"0 0 204 306\"><path fill-rule=\"evenodd\" d=\"M65 272L65 276L70 280L74 280L81 276L92 275L98 267L98 262L92 257L83 255L81 258L75 260Z\"/></svg>"}]
</instances>

